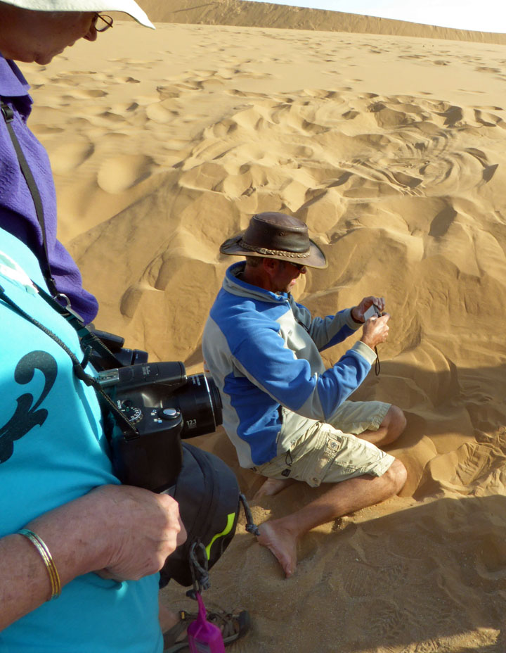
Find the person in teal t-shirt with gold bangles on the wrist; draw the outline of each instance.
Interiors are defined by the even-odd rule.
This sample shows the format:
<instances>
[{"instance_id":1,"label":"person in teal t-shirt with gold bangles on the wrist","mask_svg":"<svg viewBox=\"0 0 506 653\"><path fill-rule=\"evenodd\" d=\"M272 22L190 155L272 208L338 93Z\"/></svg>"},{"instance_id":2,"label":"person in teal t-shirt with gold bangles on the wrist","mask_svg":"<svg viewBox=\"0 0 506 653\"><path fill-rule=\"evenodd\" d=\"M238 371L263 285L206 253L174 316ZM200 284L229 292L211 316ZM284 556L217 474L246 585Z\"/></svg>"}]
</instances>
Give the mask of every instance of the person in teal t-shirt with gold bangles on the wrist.
<instances>
[{"instance_id":1,"label":"person in teal t-shirt with gold bangles on the wrist","mask_svg":"<svg viewBox=\"0 0 506 653\"><path fill-rule=\"evenodd\" d=\"M95 391L6 298L82 360L77 334L34 288L32 252L4 229L0 243L0 650L160 653L178 505L119 485Z\"/></svg>"}]
</instances>

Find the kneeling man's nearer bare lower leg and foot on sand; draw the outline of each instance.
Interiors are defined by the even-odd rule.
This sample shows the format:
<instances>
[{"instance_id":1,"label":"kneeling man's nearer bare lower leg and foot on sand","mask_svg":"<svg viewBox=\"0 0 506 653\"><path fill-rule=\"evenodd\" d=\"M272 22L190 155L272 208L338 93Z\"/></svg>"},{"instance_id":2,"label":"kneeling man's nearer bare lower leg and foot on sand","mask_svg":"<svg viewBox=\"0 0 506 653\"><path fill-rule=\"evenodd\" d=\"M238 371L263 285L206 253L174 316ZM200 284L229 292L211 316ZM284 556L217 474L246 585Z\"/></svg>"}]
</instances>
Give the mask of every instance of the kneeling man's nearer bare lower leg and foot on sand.
<instances>
[{"instance_id":1,"label":"kneeling man's nearer bare lower leg and foot on sand","mask_svg":"<svg viewBox=\"0 0 506 653\"><path fill-rule=\"evenodd\" d=\"M332 484L325 494L297 512L261 524L259 544L278 559L288 578L297 566L297 542L301 535L327 521L393 497L404 483L406 468L396 459L383 476L365 474Z\"/></svg>"}]
</instances>

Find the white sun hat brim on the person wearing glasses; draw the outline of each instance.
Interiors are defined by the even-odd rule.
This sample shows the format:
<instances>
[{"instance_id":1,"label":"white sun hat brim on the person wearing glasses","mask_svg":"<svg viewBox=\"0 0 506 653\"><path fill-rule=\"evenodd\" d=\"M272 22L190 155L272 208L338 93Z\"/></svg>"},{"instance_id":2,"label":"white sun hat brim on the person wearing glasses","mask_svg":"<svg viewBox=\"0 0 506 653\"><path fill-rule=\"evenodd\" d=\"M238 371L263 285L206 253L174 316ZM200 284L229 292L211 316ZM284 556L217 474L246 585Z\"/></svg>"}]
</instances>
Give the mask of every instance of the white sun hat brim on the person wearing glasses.
<instances>
[{"instance_id":1,"label":"white sun hat brim on the person wearing glasses","mask_svg":"<svg viewBox=\"0 0 506 653\"><path fill-rule=\"evenodd\" d=\"M122 11L137 23L155 29L148 16L134 0L2 0L31 11Z\"/></svg>"}]
</instances>

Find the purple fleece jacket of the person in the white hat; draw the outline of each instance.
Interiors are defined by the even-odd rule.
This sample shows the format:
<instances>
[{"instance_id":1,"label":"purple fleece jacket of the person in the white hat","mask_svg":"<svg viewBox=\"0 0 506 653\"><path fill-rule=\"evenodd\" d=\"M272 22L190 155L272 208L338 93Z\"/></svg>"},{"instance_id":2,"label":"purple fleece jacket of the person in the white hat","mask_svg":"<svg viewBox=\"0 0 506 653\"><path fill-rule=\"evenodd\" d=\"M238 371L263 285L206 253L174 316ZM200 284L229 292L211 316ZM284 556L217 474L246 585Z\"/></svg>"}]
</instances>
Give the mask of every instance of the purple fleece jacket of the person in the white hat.
<instances>
[{"instance_id":1,"label":"purple fleece jacket of the person in the white hat","mask_svg":"<svg viewBox=\"0 0 506 653\"><path fill-rule=\"evenodd\" d=\"M88 324L98 311L98 302L82 287L82 277L72 257L56 239L56 192L47 153L27 127L32 98L25 77L13 61L0 54L0 98L14 111L14 132L41 195L46 223L46 241L51 272L60 293ZM42 231L32 195L23 177L11 137L0 114L0 227L27 244L41 260ZM0 243L1 245L1 243Z\"/></svg>"}]
</instances>

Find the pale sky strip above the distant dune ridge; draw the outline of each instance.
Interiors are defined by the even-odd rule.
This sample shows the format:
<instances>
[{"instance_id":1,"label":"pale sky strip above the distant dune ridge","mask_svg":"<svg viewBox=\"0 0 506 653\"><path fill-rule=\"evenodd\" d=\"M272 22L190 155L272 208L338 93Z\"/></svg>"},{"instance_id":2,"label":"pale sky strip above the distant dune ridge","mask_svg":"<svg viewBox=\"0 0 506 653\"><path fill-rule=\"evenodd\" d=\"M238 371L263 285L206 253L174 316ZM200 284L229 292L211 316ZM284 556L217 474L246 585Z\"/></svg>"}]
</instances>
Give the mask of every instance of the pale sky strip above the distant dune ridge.
<instances>
[{"instance_id":1,"label":"pale sky strip above the distant dune ridge","mask_svg":"<svg viewBox=\"0 0 506 653\"><path fill-rule=\"evenodd\" d=\"M261 0L256 0L261 1ZM506 0L270 0L479 32L506 32Z\"/></svg>"}]
</instances>

